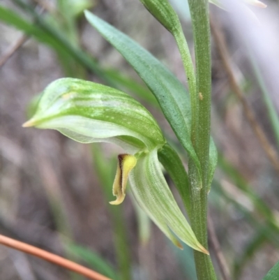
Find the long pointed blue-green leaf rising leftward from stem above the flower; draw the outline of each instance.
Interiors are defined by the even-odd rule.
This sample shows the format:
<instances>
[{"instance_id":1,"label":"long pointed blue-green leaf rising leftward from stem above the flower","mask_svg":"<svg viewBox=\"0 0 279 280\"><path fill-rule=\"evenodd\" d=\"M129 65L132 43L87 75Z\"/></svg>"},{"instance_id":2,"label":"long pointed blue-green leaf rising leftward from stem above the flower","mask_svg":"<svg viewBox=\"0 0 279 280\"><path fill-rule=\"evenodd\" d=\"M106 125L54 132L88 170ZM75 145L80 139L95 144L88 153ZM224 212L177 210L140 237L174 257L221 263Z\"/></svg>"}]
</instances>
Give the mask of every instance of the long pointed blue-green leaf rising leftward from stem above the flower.
<instances>
[{"instance_id":1,"label":"long pointed blue-green leaf rising leftward from stem above the flower","mask_svg":"<svg viewBox=\"0 0 279 280\"><path fill-rule=\"evenodd\" d=\"M85 11L86 19L133 66L163 110L177 138L199 167L190 140L190 98L181 82L153 55L107 22Z\"/></svg>"}]
</instances>

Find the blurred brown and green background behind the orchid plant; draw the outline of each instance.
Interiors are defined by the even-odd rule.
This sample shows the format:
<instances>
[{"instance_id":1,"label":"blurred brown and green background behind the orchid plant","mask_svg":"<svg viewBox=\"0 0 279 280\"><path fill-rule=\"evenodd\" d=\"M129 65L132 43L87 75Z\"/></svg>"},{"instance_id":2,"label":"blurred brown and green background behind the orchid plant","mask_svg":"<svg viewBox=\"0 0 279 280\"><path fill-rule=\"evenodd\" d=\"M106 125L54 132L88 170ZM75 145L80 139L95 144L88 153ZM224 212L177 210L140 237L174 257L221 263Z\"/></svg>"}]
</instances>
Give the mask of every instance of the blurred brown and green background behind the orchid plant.
<instances>
[{"instance_id":1,"label":"blurred brown and green background behind the orchid plant","mask_svg":"<svg viewBox=\"0 0 279 280\"><path fill-rule=\"evenodd\" d=\"M194 54L187 1L171 2ZM209 215L231 279L255 280L279 259L279 1L266 0L265 9L233 2L225 9L210 5L211 120L219 156ZM195 280L193 252L174 248L133 198L109 205L119 147L22 128L47 84L92 80L149 108L187 163L155 99L86 22L85 8L144 46L187 87L171 34L140 1L0 0L0 233L113 279ZM0 267L1 280L84 279L3 246Z\"/></svg>"}]
</instances>

